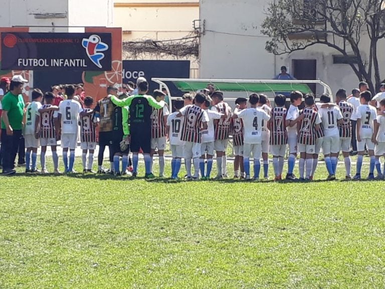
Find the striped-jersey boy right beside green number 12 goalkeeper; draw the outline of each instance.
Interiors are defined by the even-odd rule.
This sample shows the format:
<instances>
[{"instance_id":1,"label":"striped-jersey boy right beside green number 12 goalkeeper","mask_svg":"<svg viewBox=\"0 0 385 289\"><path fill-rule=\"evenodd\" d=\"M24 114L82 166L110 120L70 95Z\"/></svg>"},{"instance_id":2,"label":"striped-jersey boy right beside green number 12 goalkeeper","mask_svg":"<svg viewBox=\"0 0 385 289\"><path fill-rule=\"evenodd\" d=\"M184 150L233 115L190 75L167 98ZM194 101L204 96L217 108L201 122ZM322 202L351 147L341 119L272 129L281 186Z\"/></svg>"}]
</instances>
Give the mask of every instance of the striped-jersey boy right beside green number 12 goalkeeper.
<instances>
[{"instance_id":1,"label":"striped-jersey boy right beside green number 12 goalkeeper","mask_svg":"<svg viewBox=\"0 0 385 289\"><path fill-rule=\"evenodd\" d=\"M162 91L156 89L153 92L156 101L164 102L166 96ZM151 114L151 173L153 157L155 149L158 149L159 156L159 177L164 178L164 149L166 148L166 135L167 135L167 116L168 116L167 104L161 109L152 109Z\"/></svg>"}]
</instances>

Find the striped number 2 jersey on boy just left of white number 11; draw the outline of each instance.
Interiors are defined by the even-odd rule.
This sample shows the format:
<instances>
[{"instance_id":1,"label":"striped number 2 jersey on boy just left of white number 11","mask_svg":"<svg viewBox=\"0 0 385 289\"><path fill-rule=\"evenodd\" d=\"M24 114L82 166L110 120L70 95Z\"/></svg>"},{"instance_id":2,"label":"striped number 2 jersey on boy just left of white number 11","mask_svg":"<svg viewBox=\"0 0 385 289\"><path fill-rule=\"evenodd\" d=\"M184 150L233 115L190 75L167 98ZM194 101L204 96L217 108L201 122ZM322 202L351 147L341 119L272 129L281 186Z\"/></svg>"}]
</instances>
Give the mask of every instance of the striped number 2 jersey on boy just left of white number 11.
<instances>
[{"instance_id":1,"label":"striped number 2 jersey on boy just left of white number 11","mask_svg":"<svg viewBox=\"0 0 385 289\"><path fill-rule=\"evenodd\" d=\"M300 130L298 132L298 143L301 145L315 145L315 125L321 123L318 112L311 107L305 107L300 115L304 114L301 121Z\"/></svg>"}]
</instances>

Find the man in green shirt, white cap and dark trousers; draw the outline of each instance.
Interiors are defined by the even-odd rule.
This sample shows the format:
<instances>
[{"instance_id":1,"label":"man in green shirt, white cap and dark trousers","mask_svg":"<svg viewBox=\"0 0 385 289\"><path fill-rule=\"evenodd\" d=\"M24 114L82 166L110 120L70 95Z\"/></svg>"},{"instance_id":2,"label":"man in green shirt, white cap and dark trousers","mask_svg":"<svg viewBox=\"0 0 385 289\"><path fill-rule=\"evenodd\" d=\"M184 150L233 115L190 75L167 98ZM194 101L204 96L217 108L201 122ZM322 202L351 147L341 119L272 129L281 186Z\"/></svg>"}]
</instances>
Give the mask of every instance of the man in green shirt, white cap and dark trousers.
<instances>
[{"instance_id":1,"label":"man in green shirt, white cap and dark trousers","mask_svg":"<svg viewBox=\"0 0 385 289\"><path fill-rule=\"evenodd\" d=\"M24 99L23 85L28 82L21 75L15 75L10 84L10 91L3 97L2 106L2 146L3 175L14 175L15 158L22 137Z\"/></svg>"}]
</instances>

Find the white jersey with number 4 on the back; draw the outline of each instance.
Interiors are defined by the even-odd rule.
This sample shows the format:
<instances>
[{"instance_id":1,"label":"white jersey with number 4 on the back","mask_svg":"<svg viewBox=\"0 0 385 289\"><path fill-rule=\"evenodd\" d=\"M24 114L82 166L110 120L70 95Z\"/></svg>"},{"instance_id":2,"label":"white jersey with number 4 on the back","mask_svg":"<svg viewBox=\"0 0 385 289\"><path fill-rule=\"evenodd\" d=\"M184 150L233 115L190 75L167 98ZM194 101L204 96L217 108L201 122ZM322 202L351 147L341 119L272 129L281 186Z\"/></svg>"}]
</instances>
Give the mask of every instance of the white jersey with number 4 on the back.
<instances>
[{"instance_id":1,"label":"white jersey with number 4 on the back","mask_svg":"<svg viewBox=\"0 0 385 289\"><path fill-rule=\"evenodd\" d=\"M237 112L244 125L244 143L262 143L262 122L267 122L270 115L261 108L246 108Z\"/></svg>"}]
</instances>

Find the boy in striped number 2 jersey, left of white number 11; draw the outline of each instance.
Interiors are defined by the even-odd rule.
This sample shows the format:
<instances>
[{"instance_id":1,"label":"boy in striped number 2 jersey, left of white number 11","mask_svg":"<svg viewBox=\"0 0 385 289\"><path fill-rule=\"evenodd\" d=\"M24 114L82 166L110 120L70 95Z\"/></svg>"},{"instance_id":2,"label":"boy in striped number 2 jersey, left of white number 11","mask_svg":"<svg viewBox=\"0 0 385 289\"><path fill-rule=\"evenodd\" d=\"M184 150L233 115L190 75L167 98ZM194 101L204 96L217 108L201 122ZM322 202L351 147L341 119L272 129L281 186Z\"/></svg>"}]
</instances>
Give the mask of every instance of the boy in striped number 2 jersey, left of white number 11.
<instances>
[{"instance_id":1,"label":"boy in striped number 2 jersey, left of white number 11","mask_svg":"<svg viewBox=\"0 0 385 289\"><path fill-rule=\"evenodd\" d=\"M301 111L303 119L298 122L298 151L300 153L299 175L300 180L310 180L313 168L313 154L315 152L315 131L319 130L321 120L318 112L313 109L314 96L306 94L305 108ZM306 164L306 178L304 178Z\"/></svg>"}]
</instances>

